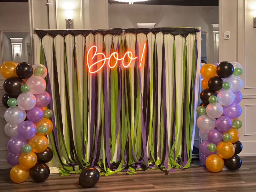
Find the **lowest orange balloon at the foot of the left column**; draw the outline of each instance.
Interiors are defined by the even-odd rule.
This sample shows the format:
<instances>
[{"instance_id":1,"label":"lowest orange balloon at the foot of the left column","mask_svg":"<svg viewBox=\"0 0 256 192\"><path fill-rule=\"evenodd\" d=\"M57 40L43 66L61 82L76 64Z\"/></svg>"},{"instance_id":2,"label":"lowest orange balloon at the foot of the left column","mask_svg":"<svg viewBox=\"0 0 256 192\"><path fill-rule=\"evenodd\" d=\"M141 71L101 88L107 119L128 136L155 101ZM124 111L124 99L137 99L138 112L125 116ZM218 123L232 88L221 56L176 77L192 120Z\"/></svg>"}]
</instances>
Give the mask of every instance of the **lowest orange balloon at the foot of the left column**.
<instances>
[{"instance_id":1,"label":"lowest orange balloon at the foot of the left column","mask_svg":"<svg viewBox=\"0 0 256 192\"><path fill-rule=\"evenodd\" d=\"M29 177L29 169L22 167L21 165L15 165L10 170L10 178L15 183L22 183Z\"/></svg>"}]
</instances>

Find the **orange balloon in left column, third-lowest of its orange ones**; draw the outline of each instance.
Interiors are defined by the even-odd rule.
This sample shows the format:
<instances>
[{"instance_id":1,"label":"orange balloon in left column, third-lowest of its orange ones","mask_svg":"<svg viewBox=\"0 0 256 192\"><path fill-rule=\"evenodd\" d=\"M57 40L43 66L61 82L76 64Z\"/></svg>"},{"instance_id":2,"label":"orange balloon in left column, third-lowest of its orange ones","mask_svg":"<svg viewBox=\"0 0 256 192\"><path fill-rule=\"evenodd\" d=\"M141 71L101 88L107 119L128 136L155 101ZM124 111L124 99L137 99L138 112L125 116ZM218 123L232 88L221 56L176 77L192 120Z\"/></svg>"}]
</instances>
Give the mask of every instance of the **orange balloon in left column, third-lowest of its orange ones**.
<instances>
[{"instance_id":1,"label":"orange balloon in left column, third-lowest of its orange ones","mask_svg":"<svg viewBox=\"0 0 256 192\"><path fill-rule=\"evenodd\" d=\"M41 153L47 149L49 143L46 136L35 134L33 138L29 139L29 145L33 152Z\"/></svg>"}]
</instances>

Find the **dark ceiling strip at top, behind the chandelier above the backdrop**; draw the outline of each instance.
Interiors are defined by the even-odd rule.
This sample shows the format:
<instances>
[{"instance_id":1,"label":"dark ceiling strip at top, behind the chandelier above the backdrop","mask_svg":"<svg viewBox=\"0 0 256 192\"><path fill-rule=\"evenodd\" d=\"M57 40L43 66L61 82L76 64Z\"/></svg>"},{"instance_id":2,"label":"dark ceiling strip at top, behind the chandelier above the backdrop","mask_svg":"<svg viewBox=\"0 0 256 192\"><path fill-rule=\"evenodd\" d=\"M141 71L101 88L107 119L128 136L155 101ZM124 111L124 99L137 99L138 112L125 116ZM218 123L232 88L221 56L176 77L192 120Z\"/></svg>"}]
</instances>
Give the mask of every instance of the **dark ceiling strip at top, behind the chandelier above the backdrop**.
<instances>
[{"instance_id":1,"label":"dark ceiling strip at top, behind the chandelier above the backdrop","mask_svg":"<svg viewBox=\"0 0 256 192\"><path fill-rule=\"evenodd\" d=\"M109 3L121 3L109 0ZM127 3L126 3L127 4ZM218 6L218 0L150 0L146 2L137 2L134 4L145 5L183 5L183 6Z\"/></svg>"}]
</instances>

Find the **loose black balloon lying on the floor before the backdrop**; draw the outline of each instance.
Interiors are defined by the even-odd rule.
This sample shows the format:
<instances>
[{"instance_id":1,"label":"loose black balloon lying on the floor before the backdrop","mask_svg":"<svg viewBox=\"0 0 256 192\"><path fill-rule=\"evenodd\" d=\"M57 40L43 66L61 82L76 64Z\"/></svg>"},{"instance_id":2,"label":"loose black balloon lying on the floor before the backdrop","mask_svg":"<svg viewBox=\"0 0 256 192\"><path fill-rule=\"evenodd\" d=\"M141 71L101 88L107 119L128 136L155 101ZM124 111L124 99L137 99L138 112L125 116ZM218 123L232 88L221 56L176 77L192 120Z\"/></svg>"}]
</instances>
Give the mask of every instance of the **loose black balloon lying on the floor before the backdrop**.
<instances>
[{"instance_id":1,"label":"loose black balloon lying on the floor before the backdrop","mask_svg":"<svg viewBox=\"0 0 256 192\"><path fill-rule=\"evenodd\" d=\"M79 176L79 185L93 187L99 181L99 171L94 167L87 167L82 170Z\"/></svg>"}]
</instances>

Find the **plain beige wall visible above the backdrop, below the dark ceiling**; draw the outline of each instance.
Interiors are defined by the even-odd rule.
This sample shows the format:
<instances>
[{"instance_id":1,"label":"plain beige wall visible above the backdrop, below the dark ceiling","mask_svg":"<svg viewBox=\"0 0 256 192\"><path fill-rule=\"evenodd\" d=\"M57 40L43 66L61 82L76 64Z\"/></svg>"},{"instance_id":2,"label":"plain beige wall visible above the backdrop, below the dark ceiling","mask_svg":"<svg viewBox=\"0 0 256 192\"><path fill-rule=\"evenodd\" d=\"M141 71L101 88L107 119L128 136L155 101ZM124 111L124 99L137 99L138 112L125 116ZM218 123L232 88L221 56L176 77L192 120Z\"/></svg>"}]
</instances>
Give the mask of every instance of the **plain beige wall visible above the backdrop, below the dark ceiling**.
<instances>
[{"instance_id":1,"label":"plain beige wall visible above the backdrop, below the dark ceiling","mask_svg":"<svg viewBox=\"0 0 256 192\"><path fill-rule=\"evenodd\" d=\"M155 27L201 26L201 31L208 34L207 60L215 62L211 24L218 23L218 6L109 4L109 28L137 28L136 23L156 23Z\"/></svg>"}]
</instances>

